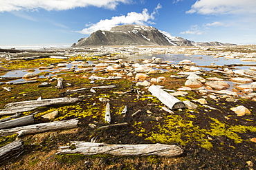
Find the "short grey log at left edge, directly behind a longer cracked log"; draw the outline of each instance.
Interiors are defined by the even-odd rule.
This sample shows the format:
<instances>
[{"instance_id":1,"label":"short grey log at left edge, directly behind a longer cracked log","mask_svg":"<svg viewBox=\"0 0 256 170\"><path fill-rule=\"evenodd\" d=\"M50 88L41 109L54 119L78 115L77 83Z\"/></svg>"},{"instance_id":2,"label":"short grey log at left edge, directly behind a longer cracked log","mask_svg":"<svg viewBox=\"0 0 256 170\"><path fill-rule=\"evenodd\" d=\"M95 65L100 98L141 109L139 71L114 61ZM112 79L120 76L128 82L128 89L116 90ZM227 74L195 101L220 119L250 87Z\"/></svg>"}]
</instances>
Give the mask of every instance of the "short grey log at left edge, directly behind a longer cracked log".
<instances>
[{"instance_id":1,"label":"short grey log at left edge, directly behind a longer cracked log","mask_svg":"<svg viewBox=\"0 0 256 170\"><path fill-rule=\"evenodd\" d=\"M29 116L24 116L21 118L16 118L13 120L8 120L6 122L0 123L0 129L7 129L10 127L20 127L24 125L29 125L35 123L34 116L29 115Z\"/></svg>"}]
</instances>

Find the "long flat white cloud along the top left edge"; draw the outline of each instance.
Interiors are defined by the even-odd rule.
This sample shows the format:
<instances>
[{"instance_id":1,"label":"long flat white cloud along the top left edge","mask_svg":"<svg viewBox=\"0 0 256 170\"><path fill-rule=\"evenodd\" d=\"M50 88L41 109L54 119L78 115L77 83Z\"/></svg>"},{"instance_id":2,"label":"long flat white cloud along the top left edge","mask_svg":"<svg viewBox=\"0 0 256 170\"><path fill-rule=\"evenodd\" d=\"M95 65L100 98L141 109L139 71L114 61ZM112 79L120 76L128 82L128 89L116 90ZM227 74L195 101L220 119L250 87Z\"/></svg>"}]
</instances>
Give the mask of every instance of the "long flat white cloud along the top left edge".
<instances>
[{"instance_id":1,"label":"long flat white cloud along the top left edge","mask_svg":"<svg viewBox=\"0 0 256 170\"><path fill-rule=\"evenodd\" d=\"M17 10L69 10L77 7L96 6L114 9L119 3L132 0L0 0L0 12Z\"/></svg>"}]
</instances>

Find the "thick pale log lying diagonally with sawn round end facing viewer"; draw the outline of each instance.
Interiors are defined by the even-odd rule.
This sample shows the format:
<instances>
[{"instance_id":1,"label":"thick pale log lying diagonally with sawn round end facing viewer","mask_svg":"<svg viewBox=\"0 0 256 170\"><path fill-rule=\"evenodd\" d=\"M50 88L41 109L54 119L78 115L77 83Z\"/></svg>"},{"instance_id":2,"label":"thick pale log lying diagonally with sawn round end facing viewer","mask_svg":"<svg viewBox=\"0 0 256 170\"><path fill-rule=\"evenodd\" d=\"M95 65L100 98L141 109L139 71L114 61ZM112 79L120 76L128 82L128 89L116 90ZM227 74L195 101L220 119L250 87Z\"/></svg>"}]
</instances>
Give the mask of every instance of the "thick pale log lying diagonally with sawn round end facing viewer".
<instances>
[{"instance_id":1,"label":"thick pale log lying diagonally with sawn round end facing viewer","mask_svg":"<svg viewBox=\"0 0 256 170\"><path fill-rule=\"evenodd\" d=\"M179 100L178 98L175 98L174 96L168 94L167 92L163 91L156 85L152 85L149 87L149 92L153 94L153 96L156 96L163 104L165 104L170 109L181 109L185 108L185 104Z\"/></svg>"}]
</instances>

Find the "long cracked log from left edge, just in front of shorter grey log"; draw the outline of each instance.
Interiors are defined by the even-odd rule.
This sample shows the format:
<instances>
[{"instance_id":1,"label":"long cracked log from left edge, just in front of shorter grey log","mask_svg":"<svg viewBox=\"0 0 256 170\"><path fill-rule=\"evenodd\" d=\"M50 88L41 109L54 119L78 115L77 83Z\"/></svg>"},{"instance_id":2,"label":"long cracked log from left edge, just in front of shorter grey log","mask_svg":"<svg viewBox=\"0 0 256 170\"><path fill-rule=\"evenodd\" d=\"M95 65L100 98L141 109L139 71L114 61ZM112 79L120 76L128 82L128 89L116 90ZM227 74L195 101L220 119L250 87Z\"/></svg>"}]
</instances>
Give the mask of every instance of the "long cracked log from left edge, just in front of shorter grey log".
<instances>
[{"instance_id":1,"label":"long cracked log from left edge, just in front of shorter grey log","mask_svg":"<svg viewBox=\"0 0 256 170\"><path fill-rule=\"evenodd\" d=\"M77 127L78 119L55 121L51 123L39 123L36 125L28 125L24 127L15 127L12 129L1 129L0 136L9 136L18 134L19 136L27 134L39 134L44 131L56 131L59 129L71 129Z\"/></svg>"}]
</instances>

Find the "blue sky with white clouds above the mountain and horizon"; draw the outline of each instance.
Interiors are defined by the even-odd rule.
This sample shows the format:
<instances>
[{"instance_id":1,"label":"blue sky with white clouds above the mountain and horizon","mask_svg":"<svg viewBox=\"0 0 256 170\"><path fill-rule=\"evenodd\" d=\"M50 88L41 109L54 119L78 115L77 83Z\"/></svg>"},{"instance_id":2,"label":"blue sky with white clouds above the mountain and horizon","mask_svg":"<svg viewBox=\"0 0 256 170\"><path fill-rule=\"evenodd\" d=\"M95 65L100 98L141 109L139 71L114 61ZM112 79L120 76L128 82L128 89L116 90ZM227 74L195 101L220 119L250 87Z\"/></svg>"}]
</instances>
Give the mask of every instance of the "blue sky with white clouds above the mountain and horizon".
<instances>
[{"instance_id":1,"label":"blue sky with white clouds above the mountain and horizon","mask_svg":"<svg viewBox=\"0 0 256 170\"><path fill-rule=\"evenodd\" d=\"M123 24L195 42L256 44L255 9L256 0L0 0L0 47L69 47Z\"/></svg>"}]
</instances>

